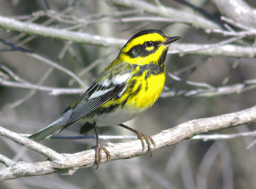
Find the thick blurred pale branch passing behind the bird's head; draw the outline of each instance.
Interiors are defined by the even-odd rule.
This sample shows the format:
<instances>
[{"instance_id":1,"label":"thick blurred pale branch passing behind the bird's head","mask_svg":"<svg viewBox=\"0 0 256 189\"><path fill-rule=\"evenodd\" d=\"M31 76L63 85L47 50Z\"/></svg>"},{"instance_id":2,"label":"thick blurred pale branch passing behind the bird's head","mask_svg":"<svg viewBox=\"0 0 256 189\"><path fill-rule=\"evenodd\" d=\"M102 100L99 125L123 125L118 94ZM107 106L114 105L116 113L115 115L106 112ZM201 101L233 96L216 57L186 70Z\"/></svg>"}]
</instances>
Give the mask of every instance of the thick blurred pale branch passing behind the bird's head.
<instances>
[{"instance_id":1,"label":"thick blurred pale branch passing behind the bird's head","mask_svg":"<svg viewBox=\"0 0 256 189\"><path fill-rule=\"evenodd\" d=\"M70 40L77 43L87 43L92 45L100 45L105 47L121 48L125 43L125 39L117 39L111 37L103 37L91 35L75 31L67 31L33 23L25 23L13 18L0 16L0 27L6 29L21 31L22 33L33 34L38 36L57 38L62 40ZM189 50L188 50L189 49ZM255 47L243 47L237 45L221 45L221 44L172 44L169 54L194 54L205 56L229 56L240 58L256 57Z\"/></svg>"}]
</instances>

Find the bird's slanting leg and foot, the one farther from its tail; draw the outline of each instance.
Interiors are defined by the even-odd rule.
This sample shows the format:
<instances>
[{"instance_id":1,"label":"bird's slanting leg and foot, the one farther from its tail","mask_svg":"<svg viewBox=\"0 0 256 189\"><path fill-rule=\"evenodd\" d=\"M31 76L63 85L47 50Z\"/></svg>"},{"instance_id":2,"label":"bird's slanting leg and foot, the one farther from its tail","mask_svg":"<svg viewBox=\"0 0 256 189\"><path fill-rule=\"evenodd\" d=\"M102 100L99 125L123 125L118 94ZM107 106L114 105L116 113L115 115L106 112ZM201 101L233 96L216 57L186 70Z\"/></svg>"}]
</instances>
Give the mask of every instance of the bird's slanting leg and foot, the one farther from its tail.
<instances>
[{"instance_id":1,"label":"bird's slanting leg and foot, the one farther from its tail","mask_svg":"<svg viewBox=\"0 0 256 189\"><path fill-rule=\"evenodd\" d=\"M152 151L151 151L151 144L150 142L152 143L152 145L155 147L155 142L154 140L150 137L150 136L147 136L143 133L141 133L140 131L137 131L135 129L132 129L130 127L127 127L126 125L124 124L119 124L119 126L121 126L122 128L125 128L125 129L128 129L129 131L132 131L134 133L137 134L137 137L138 139L140 139L141 141L141 144L142 144L142 151L145 149L145 144L144 144L144 141L143 139L146 141L146 144L147 144L147 153L150 153L150 156L152 156Z\"/></svg>"}]
</instances>

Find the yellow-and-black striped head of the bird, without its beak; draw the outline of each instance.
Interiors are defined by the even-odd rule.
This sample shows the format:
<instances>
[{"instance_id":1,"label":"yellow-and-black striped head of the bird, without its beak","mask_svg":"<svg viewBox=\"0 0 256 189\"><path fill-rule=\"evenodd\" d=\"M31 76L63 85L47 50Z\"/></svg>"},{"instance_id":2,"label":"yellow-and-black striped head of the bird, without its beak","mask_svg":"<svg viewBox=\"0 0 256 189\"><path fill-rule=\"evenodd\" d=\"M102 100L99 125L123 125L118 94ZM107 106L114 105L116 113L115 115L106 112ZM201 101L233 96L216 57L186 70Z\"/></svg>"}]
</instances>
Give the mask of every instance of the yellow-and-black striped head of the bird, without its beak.
<instances>
[{"instance_id":1,"label":"yellow-and-black striped head of the bird, without its beak","mask_svg":"<svg viewBox=\"0 0 256 189\"><path fill-rule=\"evenodd\" d=\"M150 31L151 33L142 32L133 36L122 48L119 58L137 65L151 62L163 64L170 44L162 43L168 39L168 35L158 30Z\"/></svg>"}]
</instances>

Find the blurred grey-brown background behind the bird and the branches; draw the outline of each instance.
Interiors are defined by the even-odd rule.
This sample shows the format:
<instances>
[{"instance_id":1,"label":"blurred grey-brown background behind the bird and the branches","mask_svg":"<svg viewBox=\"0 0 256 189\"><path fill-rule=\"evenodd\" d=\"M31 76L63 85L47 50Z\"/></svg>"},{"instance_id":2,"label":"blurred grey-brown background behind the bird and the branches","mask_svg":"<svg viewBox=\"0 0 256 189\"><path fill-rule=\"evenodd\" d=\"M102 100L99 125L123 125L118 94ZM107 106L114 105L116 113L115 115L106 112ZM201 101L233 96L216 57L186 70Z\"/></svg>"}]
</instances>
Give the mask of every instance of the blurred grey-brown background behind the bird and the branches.
<instances>
[{"instance_id":1,"label":"blurred grey-brown background behind the bird and the branches","mask_svg":"<svg viewBox=\"0 0 256 189\"><path fill-rule=\"evenodd\" d=\"M177 44L215 44L228 39L221 34L207 34L203 27L182 22L155 22L136 19L138 17L164 17L160 12L151 13L143 9L140 3L160 8L173 8L192 15L209 19L223 29L217 21L224 14L218 1L188 1L209 13L207 18L195 7L183 4L183 1L137 1L137 6L129 6L125 1L21 1L0 0L0 15L13 17L22 22L34 22L60 29L82 33L114 37L128 40L143 29L160 29L169 36L181 36ZM134 1L131 1L134 2ZM183 2L183 3L182 3ZM227 1L229 2L229 1ZM237 1L247 3L252 9L253 0ZM241 10L242 11L242 10ZM228 16L225 15L225 16ZM242 15L244 16L244 15ZM124 22L121 18L134 22ZM168 17L168 16L166 16ZM171 17L171 16L170 16ZM175 16L174 16L175 17ZM176 19L178 19L177 16ZM78 21L83 19L82 24ZM192 20L192 18L191 18ZM191 20L188 20L191 21ZM216 21L217 20L217 21ZM72 21L72 22L71 22ZM247 23L241 23L247 24ZM255 25L250 25L254 27ZM241 28L232 26L235 31ZM227 28L226 28L227 29ZM53 38L34 36L0 29L0 37L28 50L35 51L47 59L73 71L88 86L105 66L117 56L120 48L109 46L74 43ZM254 47L255 37L235 41L235 45ZM175 45L173 45L175 46ZM8 48L0 44L1 49ZM172 46L170 51L172 51ZM213 87L232 86L256 77L255 58L246 55L201 56L200 53L170 53L165 61L166 70L179 75L184 80L207 83ZM0 52L0 77L8 78L6 68L21 79L35 85L54 88L81 88L65 72L53 69L45 62L26 56L19 51ZM84 74L81 74L81 71ZM9 72L10 73L10 72ZM166 77L166 90L201 89L195 85L176 81ZM204 89L204 88L202 88ZM166 91L163 91L166 92ZM17 133L32 134L53 121L80 94L50 95L46 91L32 91L0 84L0 125ZM154 106L127 125L145 134L153 135L162 130L192 119L219 116L239 111L256 104L255 91L209 97L169 96L160 98ZM81 124L75 123L65 129L61 135L77 135ZM247 132L255 129L255 123L240 127L216 131L228 134ZM119 127L99 129L104 135L132 135ZM90 131L88 135L93 135ZM213 134L213 133L210 133ZM27 150L21 145L0 138L1 154L14 161L37 162L45 157ZM124 142L111 140L110 142ZM159 151L152 158L142 155L130 160L117 160L101 164L98 170L93 167L80 169L74 175L60 172L51 175L22 177L1 183L1 188L256 188L255 146L247 150L254 141L253 137L231 140L184 140ZM108 141L102 141L108 142ZM60 153L74 153L91 149L95 140L45 139L42 144ZM3 169L4 165L0 165Z\"/></svg>"}]
</instances>

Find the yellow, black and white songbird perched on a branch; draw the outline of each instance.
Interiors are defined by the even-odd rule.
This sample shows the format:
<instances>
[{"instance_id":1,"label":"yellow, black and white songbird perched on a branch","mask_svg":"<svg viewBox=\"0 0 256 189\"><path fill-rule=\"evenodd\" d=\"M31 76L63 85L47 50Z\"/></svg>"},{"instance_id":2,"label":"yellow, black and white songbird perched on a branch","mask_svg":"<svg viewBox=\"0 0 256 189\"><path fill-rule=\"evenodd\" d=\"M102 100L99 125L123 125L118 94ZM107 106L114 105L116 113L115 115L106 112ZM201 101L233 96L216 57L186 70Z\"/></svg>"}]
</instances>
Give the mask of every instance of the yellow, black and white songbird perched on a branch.
<instances>
[{"instance_id":1,"label":"yellow, black and white songbird perched on a branch","mask_svg":"<svg viewBox=\"0 0 256 189\"><path fill-rule=\"evenodd\" d=\"M151 144L155 146L154 140L123 123L145 112L159 98L165 83L164 62L168 49L171 43L180 38L169 37L156 29L146 29L135 34L78 100L53 122L28 138L40 141L76 121L83 122L80 134L91 129L95 132L94 166L97 169L101 163L102 151L107 160L111 157L100 142L97 127L119 125L137 134L142 150L145 140L147 152L151 156Z\"/></svg>"}]
</instances>

